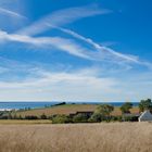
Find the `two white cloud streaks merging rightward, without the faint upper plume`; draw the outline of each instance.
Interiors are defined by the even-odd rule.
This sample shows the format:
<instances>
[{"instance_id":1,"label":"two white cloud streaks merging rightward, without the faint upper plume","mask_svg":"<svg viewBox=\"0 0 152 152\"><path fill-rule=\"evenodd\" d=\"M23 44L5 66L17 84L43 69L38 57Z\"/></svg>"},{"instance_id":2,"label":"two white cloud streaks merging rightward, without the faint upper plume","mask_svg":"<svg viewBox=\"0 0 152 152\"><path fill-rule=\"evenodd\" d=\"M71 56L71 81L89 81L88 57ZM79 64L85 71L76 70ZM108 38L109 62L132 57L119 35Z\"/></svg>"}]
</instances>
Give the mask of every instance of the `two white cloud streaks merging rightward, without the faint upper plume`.
<instances>
[{"instance_id":1,"label":"two white cloud streaks merging rightward, without the faint upper plume","mask_svg":"<svg viewBox=\"0 0 152 152\"><path fill-rule=\"evenodd\" d=\"M58 28L61 31L73 36L74 38L83 40L84 42L90 45L92 49L84 47L84 45L80 45L75 39L63 38L58 36L56 37L31 37L31 36L18 35L18 34L8 34L7 31L2 31L2 30L0 31L0 41L1 42L16 41L16 42L28 43L35 47L42 47L42 48L43 46L45 47L51 46L59 51L66 52L77 58L98 61L98 62L109 61L111 63L119 64L121 66L123 65L125 67L128 67L129 65L127 64L131 64L131 63L144 65L150 68L152 67L151 63L145 61L141 62L138 56L116 52L73 30L61 28L61 27L53 27L53 28Z\"/></svg>"}]
</instances>

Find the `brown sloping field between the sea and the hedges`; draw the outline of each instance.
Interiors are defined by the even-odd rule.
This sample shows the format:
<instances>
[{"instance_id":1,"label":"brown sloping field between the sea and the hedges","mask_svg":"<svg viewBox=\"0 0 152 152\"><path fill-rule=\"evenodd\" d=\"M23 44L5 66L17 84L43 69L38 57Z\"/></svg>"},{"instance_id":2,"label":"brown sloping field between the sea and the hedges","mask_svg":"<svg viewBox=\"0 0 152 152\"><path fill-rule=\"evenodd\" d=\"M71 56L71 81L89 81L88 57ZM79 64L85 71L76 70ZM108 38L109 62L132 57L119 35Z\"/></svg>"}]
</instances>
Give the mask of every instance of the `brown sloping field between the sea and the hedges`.
<instances>
[{"instance_id":1,"label":"brown sloping field between the sea and the hedges","mask_svg":"<svg viewBox=\"0 0 152 152\"><path fill-rule=\"evenodd\" d=\"M30 110L30 111L25 111L25 112L17 112L17 115L54 115L54 114L69 114L69 113L75 113L77 111L94 111L97 105L94 104L66 104L66 105L59 105L59 106L53 106L53 107L48 107L48 109L38 109L38 110ZM131 113L138 113L138 107L134 107L131 110ZM121 115L119 107L115 107L114 112L112 115Z\"/></svg>"}]
</instances>

